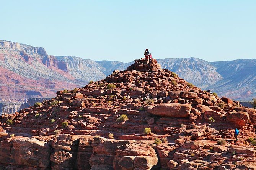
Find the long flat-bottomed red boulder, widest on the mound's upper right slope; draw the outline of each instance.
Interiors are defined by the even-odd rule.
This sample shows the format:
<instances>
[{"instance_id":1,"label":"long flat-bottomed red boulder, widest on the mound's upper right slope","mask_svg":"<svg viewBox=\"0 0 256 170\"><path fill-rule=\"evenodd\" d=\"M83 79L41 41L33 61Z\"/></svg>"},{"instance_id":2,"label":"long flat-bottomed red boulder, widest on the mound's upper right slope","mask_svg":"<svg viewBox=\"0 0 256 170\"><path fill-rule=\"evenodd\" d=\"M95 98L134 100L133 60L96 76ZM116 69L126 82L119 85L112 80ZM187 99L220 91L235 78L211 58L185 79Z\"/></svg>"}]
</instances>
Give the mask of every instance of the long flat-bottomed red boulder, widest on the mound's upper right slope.
<instances>
[{"instance_id":1,"label":"long flat-bottomed red boulder, widest on the mound's upper right slope","mask_svg":"<svg viewBox=\"0 0 256 170\"><path fill-rule=\"evenodd\" d=\"M192 106L190 104L158 104L147 111L150 114L167 117L189 117Z\"/></svg>"}]
</instances>

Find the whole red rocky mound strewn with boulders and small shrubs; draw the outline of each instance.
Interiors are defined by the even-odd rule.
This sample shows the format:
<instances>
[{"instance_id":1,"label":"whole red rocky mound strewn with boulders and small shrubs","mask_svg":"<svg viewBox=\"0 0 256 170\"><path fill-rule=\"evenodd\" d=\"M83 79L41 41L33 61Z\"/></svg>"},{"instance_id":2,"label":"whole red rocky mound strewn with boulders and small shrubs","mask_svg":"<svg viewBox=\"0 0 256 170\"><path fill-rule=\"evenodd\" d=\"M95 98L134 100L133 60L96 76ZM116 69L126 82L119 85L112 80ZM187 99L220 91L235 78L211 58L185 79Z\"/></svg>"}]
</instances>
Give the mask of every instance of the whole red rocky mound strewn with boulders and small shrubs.
<instances>
[{"instance_id":1,"label":"whole red rocky mound strewn with boulders and small shrubs","mask_svg":"<svg viewBox=\"0 0 256 170\"><path fill-rule=\"evenodd\" d=\"M256 109L143 63L2 115L0 169L256 169Z\"/></svg>"}]
</instances>

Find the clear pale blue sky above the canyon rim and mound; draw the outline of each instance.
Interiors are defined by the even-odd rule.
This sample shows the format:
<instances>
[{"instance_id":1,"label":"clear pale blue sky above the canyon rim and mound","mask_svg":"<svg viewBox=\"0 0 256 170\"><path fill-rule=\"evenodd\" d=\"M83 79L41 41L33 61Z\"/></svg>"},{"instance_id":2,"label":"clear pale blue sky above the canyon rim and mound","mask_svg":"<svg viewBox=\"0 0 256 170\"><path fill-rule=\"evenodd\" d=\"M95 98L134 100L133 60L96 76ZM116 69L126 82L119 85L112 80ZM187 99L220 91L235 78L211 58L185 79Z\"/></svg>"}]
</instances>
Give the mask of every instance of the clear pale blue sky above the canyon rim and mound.
<instances>
[{"instance_id":1,"label":"clear pale blue sky above the canyon rim and mound","mask_svg":"<svg viewBox=\"0 0 256 170\"><path fill-rule=\"evenodd\" d=\"M0 39L129 62L256 58L255 0L0 0Z\"/></svg>"}]
</instances>

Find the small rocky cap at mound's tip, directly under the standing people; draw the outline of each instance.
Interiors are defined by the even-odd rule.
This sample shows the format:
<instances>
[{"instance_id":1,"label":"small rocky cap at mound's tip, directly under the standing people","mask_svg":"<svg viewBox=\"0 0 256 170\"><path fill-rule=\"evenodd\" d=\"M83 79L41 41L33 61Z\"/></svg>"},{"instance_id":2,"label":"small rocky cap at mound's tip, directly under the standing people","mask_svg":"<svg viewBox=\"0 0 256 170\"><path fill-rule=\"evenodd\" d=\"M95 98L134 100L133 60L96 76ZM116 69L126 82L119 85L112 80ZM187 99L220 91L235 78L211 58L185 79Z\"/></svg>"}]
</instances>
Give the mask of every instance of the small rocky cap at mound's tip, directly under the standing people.
<instances>
[{"instance_id":1,"label":"small rocky cap at mound's tip, directly under the standing people","mask_svg":"<svg viewBox=\"0 0 256 170\"><path fill-rule=\"evenodd\" d=\"M161 65L157 63L156 59L151 59L151 63L145 64L145 59L136 59L134 60L134 64L127 68L128 71L136 70L136 71L157 71L161 69Z\"/></svg>"}]
</instances>

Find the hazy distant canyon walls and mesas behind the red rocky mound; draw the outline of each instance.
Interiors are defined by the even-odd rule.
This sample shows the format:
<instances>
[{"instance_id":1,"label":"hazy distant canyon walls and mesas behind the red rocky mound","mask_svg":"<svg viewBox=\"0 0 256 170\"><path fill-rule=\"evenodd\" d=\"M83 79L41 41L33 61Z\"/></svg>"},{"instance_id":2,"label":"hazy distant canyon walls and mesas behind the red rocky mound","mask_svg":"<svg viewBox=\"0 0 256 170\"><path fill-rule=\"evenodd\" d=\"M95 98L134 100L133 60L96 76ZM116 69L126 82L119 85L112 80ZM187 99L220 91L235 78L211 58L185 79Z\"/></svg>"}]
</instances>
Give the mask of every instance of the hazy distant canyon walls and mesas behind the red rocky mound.
<instances>
[{"instance_id":1,"label":"hazy distant canyon walls and mesas behind the red rocky mound","mask_svg":"<svg viewBox=\"0 0 256 170\"><path fill-rule=\"evenodd\" d=\"M52 56L42 47L0 40L0 100L52 97L64 88L83 87L130 63ZM256 97L256 59L207 62L198 58L158 59L194 85L236 100Z\"/></svg>"}]
</instances>

